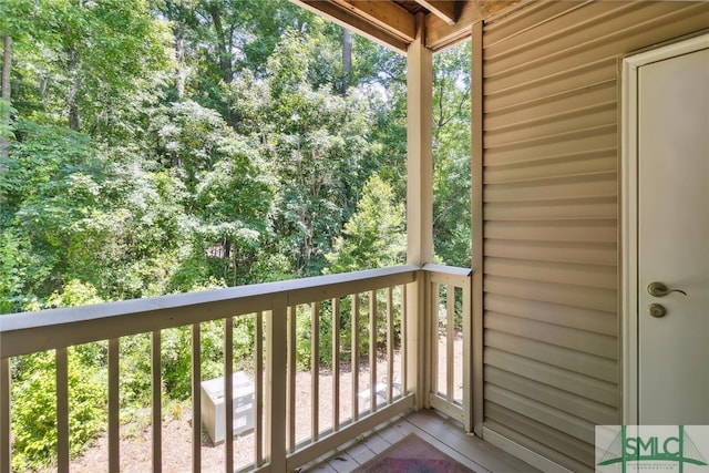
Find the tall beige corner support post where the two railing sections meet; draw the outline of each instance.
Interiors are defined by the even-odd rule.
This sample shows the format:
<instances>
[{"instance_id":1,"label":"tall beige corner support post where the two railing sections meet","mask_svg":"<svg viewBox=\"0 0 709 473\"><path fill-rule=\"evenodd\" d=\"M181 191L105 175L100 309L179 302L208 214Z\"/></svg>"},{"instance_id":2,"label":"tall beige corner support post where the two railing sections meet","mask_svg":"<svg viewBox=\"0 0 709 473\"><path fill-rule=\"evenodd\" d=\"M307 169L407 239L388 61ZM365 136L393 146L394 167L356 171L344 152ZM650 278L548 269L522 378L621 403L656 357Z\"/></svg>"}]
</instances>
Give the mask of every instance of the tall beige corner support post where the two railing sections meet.
<instances>
[{"instance_id":1,"label":"tall beige corner support post where the two railing sections meet","mask_svg":"<svg viewBox=\"0 0 709 473\"><path fill-rule=\"evenodd\" d=\"M407 51L407 263L422 266L433 255L432 95L433 56L424 47L423 14L417 16L417 39ZM407 291L407 380L415 393L415 408L424 405L430 373L421 357L424 333L424 278Z\"/></svg>"}]
</instances>

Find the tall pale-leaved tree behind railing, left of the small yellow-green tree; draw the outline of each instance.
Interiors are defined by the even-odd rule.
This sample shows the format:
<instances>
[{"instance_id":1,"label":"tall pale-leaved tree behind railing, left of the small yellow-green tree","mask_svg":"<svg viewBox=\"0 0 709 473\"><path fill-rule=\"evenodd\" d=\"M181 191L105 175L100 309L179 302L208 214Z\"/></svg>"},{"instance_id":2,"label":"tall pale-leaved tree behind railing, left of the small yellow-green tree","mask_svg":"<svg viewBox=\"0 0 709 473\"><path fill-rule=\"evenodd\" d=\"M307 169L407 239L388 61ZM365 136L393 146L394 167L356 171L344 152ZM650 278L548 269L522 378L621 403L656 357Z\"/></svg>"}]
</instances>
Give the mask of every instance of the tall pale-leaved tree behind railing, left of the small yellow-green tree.
<instances>
[{"instance_id":1,"label":"tall pale-leaved tree behind railing, left of the small yellow-green tree","mask_svg":"<svg viewBox=\"0 0 709 473\"><path fill-rule=\"evenodd\" d=\"M275 229L277 253L306 275L319 274L325 255L354 209L361 187L376 165L369 140L374 101L367 91L347 96L331 86L315 89L308 78L320 35L285 34L269 59L269 161L281 186Z\"/></svg>"}]
</instances>

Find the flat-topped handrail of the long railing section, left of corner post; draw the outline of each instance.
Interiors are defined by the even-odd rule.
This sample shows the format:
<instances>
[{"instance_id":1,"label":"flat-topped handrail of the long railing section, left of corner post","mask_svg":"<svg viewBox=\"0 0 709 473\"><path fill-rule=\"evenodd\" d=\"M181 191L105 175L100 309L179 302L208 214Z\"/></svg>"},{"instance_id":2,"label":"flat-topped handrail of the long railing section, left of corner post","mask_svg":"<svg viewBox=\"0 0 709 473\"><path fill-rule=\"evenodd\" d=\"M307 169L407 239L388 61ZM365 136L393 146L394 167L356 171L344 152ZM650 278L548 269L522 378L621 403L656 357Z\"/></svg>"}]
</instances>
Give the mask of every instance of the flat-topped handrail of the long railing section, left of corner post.
<instances>
[{"instance_id":1,"label":"flat-topped handrail of the long railing section, left of corner post","mask_svg":"<svg viewBox=\"0 0 709 473\"><path fill-rule=\"evenodd\" d=\"M412 282L419 267L395 266L281 282L0 316L0 358L182 327Z\"/></svg>"}]
</instances>

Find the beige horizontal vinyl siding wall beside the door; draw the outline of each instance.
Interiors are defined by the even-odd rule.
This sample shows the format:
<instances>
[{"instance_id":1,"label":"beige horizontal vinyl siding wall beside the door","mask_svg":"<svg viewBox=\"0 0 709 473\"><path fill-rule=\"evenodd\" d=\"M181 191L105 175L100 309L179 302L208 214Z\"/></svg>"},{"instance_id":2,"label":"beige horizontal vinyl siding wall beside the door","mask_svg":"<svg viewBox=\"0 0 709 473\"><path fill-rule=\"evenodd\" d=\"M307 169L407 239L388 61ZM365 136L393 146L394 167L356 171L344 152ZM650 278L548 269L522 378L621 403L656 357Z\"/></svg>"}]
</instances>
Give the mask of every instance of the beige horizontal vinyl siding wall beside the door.
<instances>
[{"instance_id":1,"label":"beige horizontal vinyl siding wall beside the door","mask_svg":"<svg viewBox=\"0 0 709 473\"><path fill-rule=\"evenodd\" d=\"M620 422L618 63L707 2L534 1L483 29L484 426L593 471Z\"/></svg>"}]
</instances>

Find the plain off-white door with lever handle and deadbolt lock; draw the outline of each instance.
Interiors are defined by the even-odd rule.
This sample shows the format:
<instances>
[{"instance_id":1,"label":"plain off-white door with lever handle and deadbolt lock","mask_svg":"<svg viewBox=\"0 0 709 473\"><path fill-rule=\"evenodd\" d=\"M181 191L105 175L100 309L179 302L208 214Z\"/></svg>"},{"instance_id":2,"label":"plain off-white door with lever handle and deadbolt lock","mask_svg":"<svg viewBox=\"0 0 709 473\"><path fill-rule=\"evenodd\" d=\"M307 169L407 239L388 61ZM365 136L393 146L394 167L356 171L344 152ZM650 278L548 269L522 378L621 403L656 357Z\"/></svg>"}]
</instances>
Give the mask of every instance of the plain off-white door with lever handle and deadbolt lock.
<instances>
[{"instance_id":1,"label":"plain off-white door with lever handle and deadbolt lock","mask_svg":"<svg viewBox=\"0 0 709 473\"><path fill-rule=\"evenodd\" d=\"M709 424L709 37L705 39L693 51L670 48L666 56L637 68L640 424Z\"/></svg>"}]
</instances>

